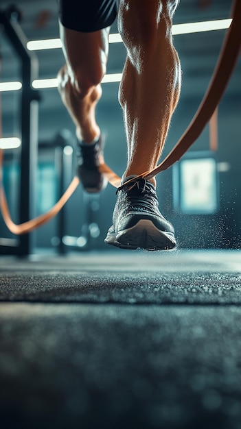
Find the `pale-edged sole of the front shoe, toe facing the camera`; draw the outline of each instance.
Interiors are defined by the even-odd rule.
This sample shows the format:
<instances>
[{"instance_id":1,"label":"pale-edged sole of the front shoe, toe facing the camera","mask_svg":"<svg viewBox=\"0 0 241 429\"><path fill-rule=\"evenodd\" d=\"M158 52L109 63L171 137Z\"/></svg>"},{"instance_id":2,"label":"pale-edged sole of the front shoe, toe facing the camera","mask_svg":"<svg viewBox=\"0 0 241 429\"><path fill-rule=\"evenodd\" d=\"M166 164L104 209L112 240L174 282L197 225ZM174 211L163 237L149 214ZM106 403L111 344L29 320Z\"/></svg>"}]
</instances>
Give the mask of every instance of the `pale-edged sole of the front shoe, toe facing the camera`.
<instances>
[{"instance_id":1,"label":"pale-edged sole of the front shoe, toe facing the camera","mask_svg":"<svg viewBox=\"0 0 241 429\"><path fill-rule=\"evenodd\" d=\"M115 234L108 231L105 243L121 249L170 250L176 247L172 232L159 230L152 221L141 219L132 228Z\"/></svg>"}]
</instances>

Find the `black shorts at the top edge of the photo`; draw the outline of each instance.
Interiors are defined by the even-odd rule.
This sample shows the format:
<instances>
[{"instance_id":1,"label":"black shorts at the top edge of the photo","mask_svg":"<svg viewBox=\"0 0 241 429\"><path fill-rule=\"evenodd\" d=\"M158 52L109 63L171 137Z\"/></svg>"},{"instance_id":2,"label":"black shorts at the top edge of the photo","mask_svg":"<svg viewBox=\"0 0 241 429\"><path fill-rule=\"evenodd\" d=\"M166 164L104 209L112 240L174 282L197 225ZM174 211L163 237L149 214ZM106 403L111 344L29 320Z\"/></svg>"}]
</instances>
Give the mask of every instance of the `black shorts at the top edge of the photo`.
<instances>
[{"instance_id":1,"label":"black shorts at the top edge of the photo","mask_svg":"<svg viewBox=\"0 0 241 429\"><path fill-rule=\"evenodd\" d=\"M96 32L115 21L119 0L58 0L62 25L77 32Z\"/></svg>"}]
</instances>

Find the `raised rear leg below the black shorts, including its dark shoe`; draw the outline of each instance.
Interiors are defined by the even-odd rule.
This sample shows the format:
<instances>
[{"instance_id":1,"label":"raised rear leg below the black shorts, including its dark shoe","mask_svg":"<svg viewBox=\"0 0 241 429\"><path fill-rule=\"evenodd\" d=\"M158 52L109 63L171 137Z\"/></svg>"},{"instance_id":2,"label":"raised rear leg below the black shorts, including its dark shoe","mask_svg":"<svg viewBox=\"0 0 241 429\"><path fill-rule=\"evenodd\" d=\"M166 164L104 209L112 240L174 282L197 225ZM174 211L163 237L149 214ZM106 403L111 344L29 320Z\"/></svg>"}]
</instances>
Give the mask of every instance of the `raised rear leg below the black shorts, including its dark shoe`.
<instances>
[{"instance_id":1,"label":"raised rear leg below the black shorts, including its dark shoe","mask_svg":"<svg viewBox=\"0 0 241 429\"><path fill-rule=\"evenodd\" d=\"M77 174L85 191L100 192L107 180L98 167L104 163L95 107L102 95L106 72L109 27L96 32L77 32L60 24L66 64L58 73L58 88L78 138Z\"/></svg>"}]
</instances>

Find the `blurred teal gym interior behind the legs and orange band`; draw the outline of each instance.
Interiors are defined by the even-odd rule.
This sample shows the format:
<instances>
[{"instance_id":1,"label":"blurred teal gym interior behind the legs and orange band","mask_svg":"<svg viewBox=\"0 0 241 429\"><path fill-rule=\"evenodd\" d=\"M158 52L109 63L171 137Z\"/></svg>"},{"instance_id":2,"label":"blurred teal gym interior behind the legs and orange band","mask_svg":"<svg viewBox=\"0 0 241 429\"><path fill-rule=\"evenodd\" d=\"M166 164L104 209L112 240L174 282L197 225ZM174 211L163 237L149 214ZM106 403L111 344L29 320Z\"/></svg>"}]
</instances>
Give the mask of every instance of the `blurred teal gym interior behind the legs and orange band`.
<instances>
[{"instance_id":1,"label":"blurred teal gym interior behind the legs and orange band","mask_svg":"<svg viewBox=\"0 0 241 429\"><path fill-rule=\"evenodd\" d=\"M17 10L17 12L15 11ZM6 11L21 28L25 42L58 38L58 10L55 0L1 0L1 14ZM10 12L13 11L13 12ZM174 25L229 19L231 0L181 0L174 16ZM192 117L214 71L226 29L191 34L174 34L179 53L183 84L179 105L174 112L163 158L179 140ZM116 23L111 29L117 33ZM29 50L34 60L34 79L55 79L64 62L60 47ZM31 48L32 49L32 48ZM1 23L1 83L22 82L21 60ZM126 53L122 42L110 44L107 74L122 73ZM157 176L157 193L163 215L174 224L179 248L240 248L241 181L241 58L229 81L216 116L207 125L181 162ZM54 86L54 81L51 81ZM43 81L40 86L43 86ZM118 175L126 164L126 138L122 110L117 101L119 82L103 83L103 96L97 107L97 120L105 139L106 163ZM3 138L21 140L21 105L23 89L1 87L1 122ZM32 214L48 210L67 187L75 173L75 128L65 110L56 86L35 90L36 108L31 132L35 133L38 158L30 177ZM148 126L148 112L146 112ZM34 128L34 130L33 130ZM210 134L210 130L212 134ZM31 138L30 138L31 139ZM148 142L147 142L148 144ZM34 143L33 143L34 145ZM14 221L19 222L21 145L5 149L3 182ZM23 191L22 191L23 192ZM85 251L106 249L104 238L112 223L115 188L108 185L101 195L87 195L78 187L60 215L31 234L31 245L23 253L69 249ZM0 216L0 253L21 254L21 240L5 227ZM20 240L20 241L19 241ZM20 247L19 247L20 246ZM16 248L19 247L19 250ZM12 249L12 250L11 250Z\"/></svg>"}]
</instances>

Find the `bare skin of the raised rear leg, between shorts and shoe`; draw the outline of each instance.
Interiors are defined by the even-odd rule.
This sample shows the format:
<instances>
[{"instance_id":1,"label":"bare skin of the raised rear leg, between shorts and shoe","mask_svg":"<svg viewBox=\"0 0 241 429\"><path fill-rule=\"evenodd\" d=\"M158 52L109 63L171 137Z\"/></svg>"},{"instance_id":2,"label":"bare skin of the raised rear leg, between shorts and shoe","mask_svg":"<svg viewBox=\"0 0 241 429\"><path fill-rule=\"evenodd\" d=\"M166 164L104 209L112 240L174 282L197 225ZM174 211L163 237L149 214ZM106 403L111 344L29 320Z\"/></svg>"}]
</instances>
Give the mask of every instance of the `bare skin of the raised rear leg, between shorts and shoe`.
<instances>
[{"instance_id":1,"label":"bare skin of the raised rear leg, between shorts and shoe","mask_svg":"<svg viewBox=\"0 0 241 429\"><path fill-rule=\"evenodd\" d=\"M82 33L60 24L66 64L58 73L59 92L73 122L76 135L91 143L100 135L95 106L102 95L100 82L106 72L108 32Z\"/></svg>"}]
</instances>

